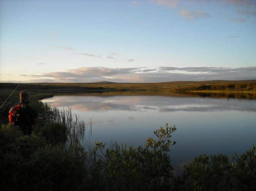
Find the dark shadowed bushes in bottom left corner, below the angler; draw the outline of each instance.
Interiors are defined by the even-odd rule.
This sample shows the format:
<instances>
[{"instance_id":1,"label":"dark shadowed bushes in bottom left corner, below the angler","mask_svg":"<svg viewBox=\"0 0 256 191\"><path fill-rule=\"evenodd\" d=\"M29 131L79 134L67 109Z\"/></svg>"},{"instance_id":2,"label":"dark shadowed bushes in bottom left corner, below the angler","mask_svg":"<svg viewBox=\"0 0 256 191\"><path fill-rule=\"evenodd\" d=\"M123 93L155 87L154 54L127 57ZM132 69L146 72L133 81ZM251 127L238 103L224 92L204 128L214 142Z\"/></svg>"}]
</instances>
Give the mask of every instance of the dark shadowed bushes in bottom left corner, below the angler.
<instances>
[{"instance_id":1,"label":"dark shadowed bushes in bottom left corner, below the angler","mask_svg":"<svg viewBox=\"0 0 256 191\"><path fill-rule=\"evenodd\" d=\"M49 145L44 137L23 136L17 127L0 128L1 190L85 188L86 152L78 143Z\"/></svg>"}]
</instances>

